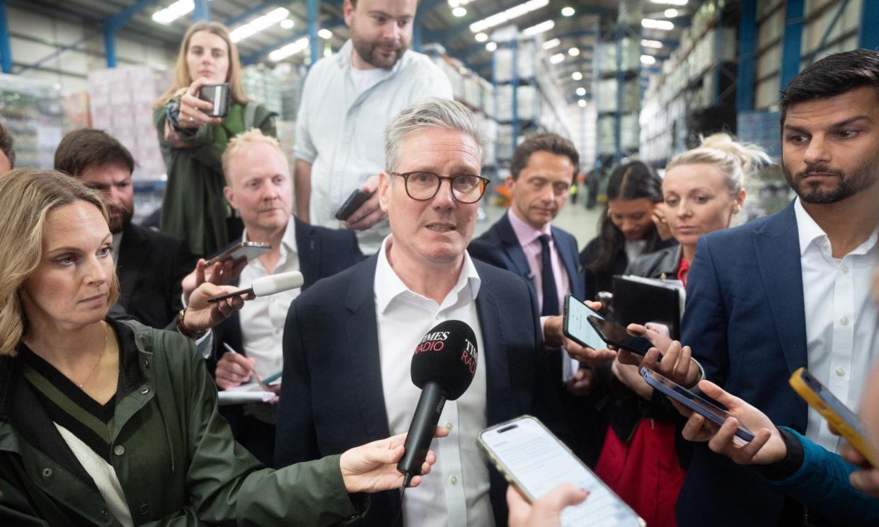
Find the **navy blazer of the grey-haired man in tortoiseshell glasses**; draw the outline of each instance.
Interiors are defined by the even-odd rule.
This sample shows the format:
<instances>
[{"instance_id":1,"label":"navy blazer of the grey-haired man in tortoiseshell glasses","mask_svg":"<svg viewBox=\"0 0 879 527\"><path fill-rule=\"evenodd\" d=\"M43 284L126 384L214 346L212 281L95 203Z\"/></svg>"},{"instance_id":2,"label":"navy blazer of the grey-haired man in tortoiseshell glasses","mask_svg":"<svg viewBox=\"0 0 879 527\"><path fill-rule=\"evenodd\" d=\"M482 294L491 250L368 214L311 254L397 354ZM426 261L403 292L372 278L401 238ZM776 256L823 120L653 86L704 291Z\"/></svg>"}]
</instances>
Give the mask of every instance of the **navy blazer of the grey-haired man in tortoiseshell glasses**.
<instances>
[{"instance_id":1,"label":"navy blazer of the grey-haired man in tortoiseshell glasses","mask_svg":"<svg viewBox=\"0 0 879 527\"><path fill-rule=\"evenodd\" d=\"M375 315L377 261L378 256L371 256L321 280L294 300L287 313L275 466L338 454L390 435ZM487 423L532 414L549 427L563 427L541 357L534 292L510 272L474 264L481 279L476 313L483 334L480 365L486 369ZM491 470L490 498L498 525L507 523L505 490L504 478ZM371 499L367 516L352 525L391 525L400 493Z\"/></svg>"}]
</instances>

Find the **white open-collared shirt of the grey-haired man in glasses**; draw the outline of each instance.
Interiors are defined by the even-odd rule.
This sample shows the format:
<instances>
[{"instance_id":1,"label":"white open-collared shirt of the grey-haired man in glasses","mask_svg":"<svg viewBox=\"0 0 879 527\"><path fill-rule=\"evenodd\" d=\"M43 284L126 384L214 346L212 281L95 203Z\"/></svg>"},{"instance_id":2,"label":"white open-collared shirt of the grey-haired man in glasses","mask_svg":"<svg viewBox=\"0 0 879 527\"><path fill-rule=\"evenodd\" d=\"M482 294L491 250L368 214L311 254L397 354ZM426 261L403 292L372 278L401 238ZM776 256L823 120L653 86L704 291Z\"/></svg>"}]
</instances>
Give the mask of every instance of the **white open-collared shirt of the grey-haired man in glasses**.
<instances>
[{"instance_id":1,"label":"white open-collared shirt of the grey-haired man in glasses","mask_svg":"<svg viewBox=\"0 0 879 527\"><path fill-rule=\"evenodd\" d=\"M378 322L381 386L390 433L409 430L421 390L412 384L412 352L427 331L441 321L459 320L476 334L483 353L483 336L476 315L480 279L465 251L457 284L441 304L410 291L391 268L386 255L392 243L381 245L375 267L375 316ZM434 441L438 460L421 485L406 490L403 522L410 527L491 527L494 515L489 500L487 460L476 446L476 436L486 426L486 381L483 357L476 376L457 401L447 401L439 425L451 434Z\"/></svg>"}]
</instances>

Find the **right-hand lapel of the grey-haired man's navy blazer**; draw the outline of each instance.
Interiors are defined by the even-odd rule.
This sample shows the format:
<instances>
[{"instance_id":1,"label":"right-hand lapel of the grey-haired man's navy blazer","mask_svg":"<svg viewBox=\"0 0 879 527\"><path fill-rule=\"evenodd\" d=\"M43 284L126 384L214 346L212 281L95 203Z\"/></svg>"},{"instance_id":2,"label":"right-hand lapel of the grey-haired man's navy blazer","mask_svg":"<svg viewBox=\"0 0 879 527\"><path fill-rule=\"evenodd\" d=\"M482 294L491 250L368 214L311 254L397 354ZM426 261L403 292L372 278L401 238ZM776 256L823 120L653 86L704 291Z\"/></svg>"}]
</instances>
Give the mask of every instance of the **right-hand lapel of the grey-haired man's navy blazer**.
<instances>
[{"instance_id":1,"label":"right-hand lapel of the grey-haired man's navy blazer","mask_svg":"<svg viewBox=\"0 0 879 527\"><path fill-rule=\"evenodd\" d=\"M474 261L481 284L476 294L476 314L483 333L483 350L480 362L485 368L486 419L489 424L502 422L512 416L512 388L510 386L510 360L506 354L502 307L493 291L491 270L488 264Z\"/></svg>"}]
</instances>

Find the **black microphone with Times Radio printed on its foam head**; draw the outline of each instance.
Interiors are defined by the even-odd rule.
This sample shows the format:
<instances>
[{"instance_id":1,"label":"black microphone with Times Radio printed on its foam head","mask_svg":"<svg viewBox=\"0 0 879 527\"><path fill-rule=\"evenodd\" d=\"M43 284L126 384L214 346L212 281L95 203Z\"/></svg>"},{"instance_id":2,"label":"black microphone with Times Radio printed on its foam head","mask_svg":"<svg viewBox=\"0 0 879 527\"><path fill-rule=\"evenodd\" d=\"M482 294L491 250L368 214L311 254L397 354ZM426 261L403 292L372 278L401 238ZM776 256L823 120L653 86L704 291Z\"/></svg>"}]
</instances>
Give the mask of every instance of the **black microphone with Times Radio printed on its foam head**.
<instances>
[{"instance_id":1,"label":"black microphone with Times Radio printed on its foam head","mask_svg":"<svg viewBox=\"0 0 879 527\"><path fill-rule=\"evenodd\" d=\"M446 401L454 401L467 391L478 359L476 335L462 321L439 322L415 347L412 384L421 388L421 398L412 416L403 458L396 464L396 470L403 473L403 487L421 475L439 414Z\"/></svg>"}]
</instances>

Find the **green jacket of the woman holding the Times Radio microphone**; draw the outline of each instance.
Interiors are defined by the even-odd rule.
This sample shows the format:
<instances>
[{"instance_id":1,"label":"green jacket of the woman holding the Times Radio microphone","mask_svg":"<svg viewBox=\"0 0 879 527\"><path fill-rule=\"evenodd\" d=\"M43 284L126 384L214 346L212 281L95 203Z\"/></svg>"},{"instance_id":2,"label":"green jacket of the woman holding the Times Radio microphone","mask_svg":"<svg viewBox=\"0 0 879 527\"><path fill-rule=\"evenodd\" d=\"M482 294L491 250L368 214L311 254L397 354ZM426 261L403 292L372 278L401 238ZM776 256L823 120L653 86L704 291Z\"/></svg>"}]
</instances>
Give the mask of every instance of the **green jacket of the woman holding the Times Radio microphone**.
<instances>
[{"instance_id":1,"label":"green jacket of the woman holding the Times Radio microphone","mask_svg":"<svg viewBox=\"0 0 879 527\"><path fill-rule=\"evenodd\" d=\"M193 343L134 321L113 326L111 457L135 525L317 526L362 516L367 500L345 492L338 456L275 471L236 444ZM0 357L0 525L119 526L72 456L21 361Z\"/></svg>"}]
</instances>

